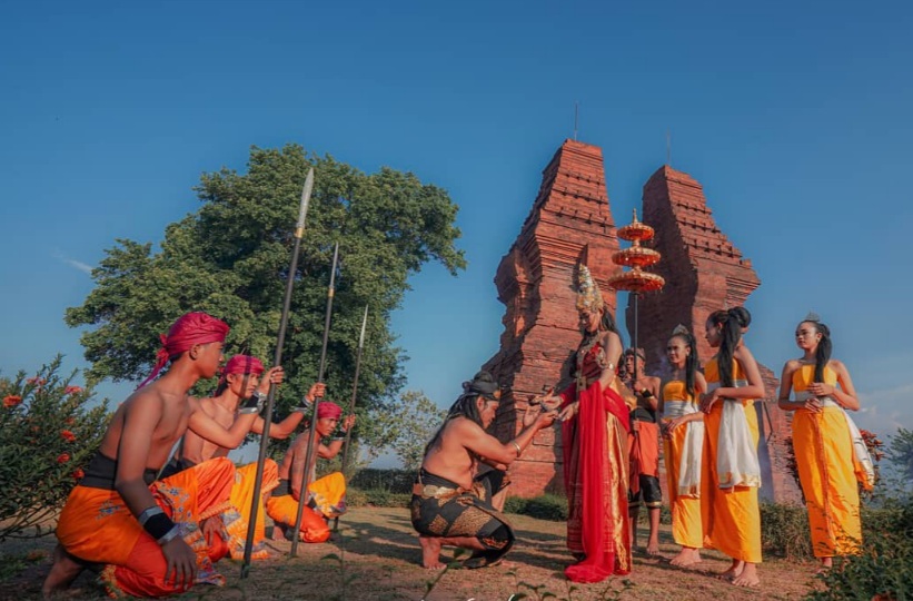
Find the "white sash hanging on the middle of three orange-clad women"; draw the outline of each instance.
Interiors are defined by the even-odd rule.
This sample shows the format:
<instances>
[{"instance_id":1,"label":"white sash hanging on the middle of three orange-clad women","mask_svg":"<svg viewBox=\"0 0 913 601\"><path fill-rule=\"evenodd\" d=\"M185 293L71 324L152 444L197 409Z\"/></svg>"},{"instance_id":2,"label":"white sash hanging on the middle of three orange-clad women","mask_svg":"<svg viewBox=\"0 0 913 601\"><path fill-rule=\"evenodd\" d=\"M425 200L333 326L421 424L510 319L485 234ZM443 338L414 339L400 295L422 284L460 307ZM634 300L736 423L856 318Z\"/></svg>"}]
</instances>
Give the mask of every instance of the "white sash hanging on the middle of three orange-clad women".
<instances>
[{"instance_id":1,"label":"white sash hanging on the middle of three orange-clad women","mask_svg":"<svg viewBox=\"0 0 913 601\"><path fill-rule=\"evenodd\" d=\"M733 386L747 385L745 380L736 380ZM720 387L718 382L707 383L707 392ZM761 487L761 465L757 462L757 446L752 444L752 432L742 401L726 400L723 403L723 418L716 441L716 475L721 489L733 486Z\"/></svg>"}]
</instances>

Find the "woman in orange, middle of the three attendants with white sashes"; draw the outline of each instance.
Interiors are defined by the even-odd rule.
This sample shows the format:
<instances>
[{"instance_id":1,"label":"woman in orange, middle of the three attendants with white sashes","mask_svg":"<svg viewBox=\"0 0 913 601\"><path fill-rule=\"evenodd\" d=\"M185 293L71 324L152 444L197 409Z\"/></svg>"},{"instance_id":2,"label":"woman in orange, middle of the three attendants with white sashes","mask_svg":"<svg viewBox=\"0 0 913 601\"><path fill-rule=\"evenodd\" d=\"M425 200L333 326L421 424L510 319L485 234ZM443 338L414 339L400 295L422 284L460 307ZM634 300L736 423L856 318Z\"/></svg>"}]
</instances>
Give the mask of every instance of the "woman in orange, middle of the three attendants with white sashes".
<instances>
[{"instance_id":1,"label":"woman in orange, middle of the three attendants with white sashes","mask_svg":"<svg viewBox=\"0 0 913 601\"><path fill-rule=\"evenodd\" d=\"M707 392L701 400L705 413L701 475L704 544L732 558L732 565L720 578L736 587L761 583L761 467L754 401L764 396L764 384L757 363L742 344L742 329L750 321L743 307L711 314L706 339L718 351L704 367Z\"/></svg>"}]
</instances>

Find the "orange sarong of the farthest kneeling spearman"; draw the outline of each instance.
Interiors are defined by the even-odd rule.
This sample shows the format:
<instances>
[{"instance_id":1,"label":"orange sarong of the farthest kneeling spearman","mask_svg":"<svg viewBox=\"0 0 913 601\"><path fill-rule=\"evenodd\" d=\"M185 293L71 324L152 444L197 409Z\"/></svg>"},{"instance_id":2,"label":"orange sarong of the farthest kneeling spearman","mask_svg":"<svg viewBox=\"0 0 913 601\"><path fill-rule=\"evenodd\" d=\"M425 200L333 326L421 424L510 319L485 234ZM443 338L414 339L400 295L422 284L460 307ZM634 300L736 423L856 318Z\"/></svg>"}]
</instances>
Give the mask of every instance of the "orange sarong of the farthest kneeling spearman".
<instances>
[{"instance_id":1,"label":"orange sarong of the farthest kneeling spearman","mask_svg":"<svg viewBox=\"0 0 913 601\"><path fill-rule=\"evenodd\" d=\"M346 512L346 479L340 472L326 475L308 485L308 506L301 511L299 540L320 543L329 539L327 520ZM311 508L310 505L314 505ZM298 502L291 494L270 496L266 512L274 522L295 528Z\"/></svg>"}]
</instances>

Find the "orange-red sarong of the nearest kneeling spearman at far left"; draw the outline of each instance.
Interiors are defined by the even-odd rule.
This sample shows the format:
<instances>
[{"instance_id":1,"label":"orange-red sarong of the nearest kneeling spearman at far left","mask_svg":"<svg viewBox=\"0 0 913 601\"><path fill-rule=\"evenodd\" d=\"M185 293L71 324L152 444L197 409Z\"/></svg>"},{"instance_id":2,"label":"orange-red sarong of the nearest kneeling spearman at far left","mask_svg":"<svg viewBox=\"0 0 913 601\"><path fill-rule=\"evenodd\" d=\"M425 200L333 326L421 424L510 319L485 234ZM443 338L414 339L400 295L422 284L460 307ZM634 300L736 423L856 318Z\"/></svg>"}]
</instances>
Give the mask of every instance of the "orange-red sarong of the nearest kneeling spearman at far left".
<instances>
[{"instance_id":1,"label":"orange-red sarong of the nearest kneeling spearman at far left","mask_svg":"<svg viewBox=\"0 0 913 601\"><path fill-rule=\"evenodd\" d=\"M199 523L230 509L228 497L234 481L235 465L219 457L149 485L156 503L178 525L180 535L197 554L193 583L225 583L212 566L214 558ZM139 525L117 491L75 487L60 513L57 538L72 555L108 564L101 581L111 594L165 597L189 588L165 581L161 548Z\"/></svg>"}]
</instances>

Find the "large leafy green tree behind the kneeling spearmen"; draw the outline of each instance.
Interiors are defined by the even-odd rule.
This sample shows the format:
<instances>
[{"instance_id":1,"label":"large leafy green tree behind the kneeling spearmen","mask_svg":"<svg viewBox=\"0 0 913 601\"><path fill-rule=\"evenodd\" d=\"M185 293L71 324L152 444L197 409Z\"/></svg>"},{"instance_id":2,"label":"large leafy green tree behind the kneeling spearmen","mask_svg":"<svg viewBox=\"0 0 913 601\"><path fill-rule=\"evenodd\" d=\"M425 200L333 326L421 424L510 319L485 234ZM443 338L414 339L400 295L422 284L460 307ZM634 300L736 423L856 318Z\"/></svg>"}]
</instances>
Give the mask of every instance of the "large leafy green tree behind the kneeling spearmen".
<instances>
[{"instance_id":1,"label":"large leafy green tree behind the kneeling spearmen","mask_svg":"<svg viewBox=\"0 0 913 601\"><path fill-rule=\"evenodd\" d=\"M455 247L457 207L447 193L413 174L381 168L364 174L300 146L252 147L246 174L204 174L202 205L166 228L160 249L117 239L92 272L96 287L66 322L81 336L91 381L137 381L149 373L159 334L187 311L206 311L231 326L226 355L275 353L301 188L309 167L315 188L298 270L294 274L282 364L287 384L277 415L297 404L316 381L333 247L339 244L333 325L327 348L328 398L351 390L364 307L368 329L358 385L359 413L401 387L401 349L390 313L409 289L408 277L437 260L450 274L465 268ZM205 394L214 383L195 390ZM358 432L359 426L356 426ZM356 433L357 433L356 432Z\"/></svg>"}]
</instances>

